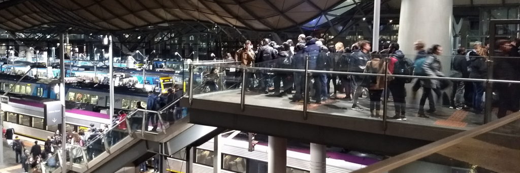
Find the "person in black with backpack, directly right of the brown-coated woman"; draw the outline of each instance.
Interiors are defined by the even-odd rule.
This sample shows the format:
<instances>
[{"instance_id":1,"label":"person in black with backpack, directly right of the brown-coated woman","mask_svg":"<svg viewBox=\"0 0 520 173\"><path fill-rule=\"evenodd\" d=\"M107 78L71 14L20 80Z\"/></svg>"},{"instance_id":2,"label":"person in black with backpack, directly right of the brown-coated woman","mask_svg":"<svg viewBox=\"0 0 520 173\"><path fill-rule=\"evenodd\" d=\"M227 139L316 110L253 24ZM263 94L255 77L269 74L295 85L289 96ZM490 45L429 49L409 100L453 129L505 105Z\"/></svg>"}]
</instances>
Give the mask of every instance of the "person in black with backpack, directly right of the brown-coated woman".
<instances>
[{"instance_id":1,"label":"person in black with backpack, directly right of the brown-coated woman","mask_svg":"<svg viewBox=\"0 0 520 173\"><path fill-rule=\"evenodd\" d=\"M405 58L405 54L399 50L399 44L391 44L388 50L390 54L388 58L388 71L395 75L411 76L413 73L413 63L410 59ZM404 77L395 77L393 81L388 82L388 89L394 99L395 116L391 117L393 119L406 121L405 84L410 82L411 78Z\"/></svg>"}]
</instances>

